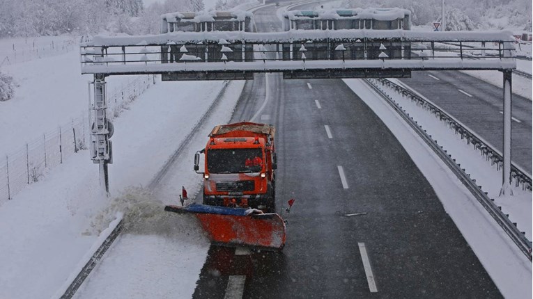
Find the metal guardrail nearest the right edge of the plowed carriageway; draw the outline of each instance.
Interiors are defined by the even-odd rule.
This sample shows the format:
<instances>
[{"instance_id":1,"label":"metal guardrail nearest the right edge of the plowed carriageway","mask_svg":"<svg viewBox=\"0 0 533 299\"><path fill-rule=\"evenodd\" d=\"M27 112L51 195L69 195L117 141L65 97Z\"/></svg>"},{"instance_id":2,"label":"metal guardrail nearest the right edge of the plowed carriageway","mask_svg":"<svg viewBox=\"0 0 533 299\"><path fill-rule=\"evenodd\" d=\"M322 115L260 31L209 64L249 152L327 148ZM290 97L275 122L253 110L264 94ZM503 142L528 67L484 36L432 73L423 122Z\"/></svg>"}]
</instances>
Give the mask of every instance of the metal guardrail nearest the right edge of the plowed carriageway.
<instances>
[{"instance_id":1,"label":"metal guardrail nearest the right edge of the plowed carriageway","mask_svg":"<svg viewBox=\"0 0 533 299\"><path fill-rule=\"evenodd\" d=\"M388 80L379 81L384 84L387 84L387 82L392 83ZM403 120L405 120L405 122L407 122L409 126L422 138L422 140L424 140L424 142L429 147L431 147L431 149L433 149L433 152L440 156L440 159L442 159L442 161L448 165L448 167L452 172L454 172L456 177L458 177L458 179L463 183L463 185L468 188L468 190L472 193L472 195L474 195L474 197L476 197L478 202L486 209L486 211L488 211L490 216L493 217L496 223L500 225L500 227L502 227L504 232L506 232L506 234L511 238L511 240L518 246L518 249L520 249L520 251L522 251L523 254L525 254L525 256L531 261L532 242L525 237L525 234L523 232L520 232L518 230L518 228L516 227L516 223L512 223L511 220L509 220L509 217L502 212L501 208L496 206L494 200L490 199L488 195L481 190L481 186L477 186L477 184L475 184L475 181L470 178L470 176L465 172L465 170L463 170L461 166L459 166L456 161L451 158L451 155L447 154L447 152L445 152L445 149L443 149L442 146L438 145L437 140L433 140L433 138L431 138L431 136L428 135L424 131L424 129L422 129L422 127L415 122L415 120L410 118L410 116L404 110L402 110L399 104L394 102L394 100L388 95L386 95L382 90L380 90L378 86L374 85L369 80L366 80L366 82L369 84L369 86L371 86L371 88L373 88L374 90L376 90L376 92L382 95L383 99L385 99L387 103L392 106L392 108L394 108L397 113L399 113L401 118L403 118ZM394 85L397 86L396 84ZM404 88L397 89L397 91L400 91L401 93L411 93L410 90L405 90ZM418 103L420 103L419 99L421 98L417 97ZM429 103L425 102L422 99L421 104ZM440 111L440 109L438 111Z\"/></svg>"}]
</instances>

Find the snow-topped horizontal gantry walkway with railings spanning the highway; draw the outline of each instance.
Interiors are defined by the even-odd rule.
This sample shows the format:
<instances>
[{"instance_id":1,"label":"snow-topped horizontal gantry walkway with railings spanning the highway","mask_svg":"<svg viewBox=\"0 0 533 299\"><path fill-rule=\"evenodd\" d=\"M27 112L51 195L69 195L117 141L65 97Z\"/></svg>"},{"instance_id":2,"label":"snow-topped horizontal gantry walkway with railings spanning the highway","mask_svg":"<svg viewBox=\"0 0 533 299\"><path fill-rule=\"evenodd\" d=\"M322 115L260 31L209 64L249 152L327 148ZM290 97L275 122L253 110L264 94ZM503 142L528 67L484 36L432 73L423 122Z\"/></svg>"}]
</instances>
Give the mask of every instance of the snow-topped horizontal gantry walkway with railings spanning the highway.
<instances>
[{"instance_id":1,"label":"snow-topped horizontal gantry walkway with railings spanning the highway","mask_svg":"<svg viewBox=\"0 0 533 299\"><path fill-rule=\"evenodd\" d=\"M86 74L358 70L362 74L399 71L408 76L411 70L516 68L513 40L505 31L446 35L365 30L165 33L96 37L82 44L80 55ZM468 59L472 56L484 59Z\"/></svg>"}]
</instances>

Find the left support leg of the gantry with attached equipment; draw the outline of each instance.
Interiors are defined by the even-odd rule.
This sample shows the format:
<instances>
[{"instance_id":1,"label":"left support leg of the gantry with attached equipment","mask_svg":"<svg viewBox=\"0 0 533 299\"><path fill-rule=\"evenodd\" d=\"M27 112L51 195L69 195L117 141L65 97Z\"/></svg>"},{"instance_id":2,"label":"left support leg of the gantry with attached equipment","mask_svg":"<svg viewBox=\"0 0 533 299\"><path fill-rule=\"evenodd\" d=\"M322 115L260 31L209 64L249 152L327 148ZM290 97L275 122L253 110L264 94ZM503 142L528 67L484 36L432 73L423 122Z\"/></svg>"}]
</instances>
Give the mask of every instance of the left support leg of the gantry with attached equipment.
<instances>
[{"instance_id":1,"label":"left support leg of the gantry with attached equipment","mask_svg":"<svg viewBox=\"0 0 533 299\"><path fill-rule=\"evenodd\" d=\"M111 141L112 125L107 120L107 99L105 97L105 75L94 75L93 124L91 127L91 153L93 163L99 164L100 186L102 192L109 196L109 175L107 164L112 163ZM111 133L111 134L110 134Z\"/></svg>"}]
</instances>

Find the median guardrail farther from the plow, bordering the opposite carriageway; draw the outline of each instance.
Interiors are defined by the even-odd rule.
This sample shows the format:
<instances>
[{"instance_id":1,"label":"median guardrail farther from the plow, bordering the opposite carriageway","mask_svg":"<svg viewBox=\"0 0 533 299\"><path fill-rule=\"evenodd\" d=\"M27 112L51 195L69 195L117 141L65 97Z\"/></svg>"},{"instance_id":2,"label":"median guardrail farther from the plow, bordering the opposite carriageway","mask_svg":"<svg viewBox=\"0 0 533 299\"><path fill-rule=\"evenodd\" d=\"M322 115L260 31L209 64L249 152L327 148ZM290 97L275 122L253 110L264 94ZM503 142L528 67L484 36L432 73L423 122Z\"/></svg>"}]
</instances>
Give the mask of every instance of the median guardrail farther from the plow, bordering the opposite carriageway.
<instances>
[{"instance_id":1,"label":"median guardrail farther from the plow, bordering the opposite carriageway","mask_svg":"<svg viewBox=\"0 0 533 299\"><path fill-rule=\"evenodd\" d=\"M490 163L492 165L496 165L497 170L500 170L500 168L502 168L502 154L490 145L488 145L488 143L486 143L483 138L477 136L477 134L471 132L469 129L463 126L463 124L461 124L461 122L456 120L453 116L447 114L445 111L442 111L442 109L438 108L434 104L427 102L422 97L419 97L419 95L417 95L415 92L403 88L402 86L399 86L398 84L392 81L389 81L387 79L380 79L379 81L389 87L394 88L394 90L396 90L396 92L401 93L401 95L408 96L413 102L416 102L419 106L423 106L426 110L430 111L431 114L435 116L435 118L438 118L440 121L445 122L445 124L449 125L450 129L453 129L456 134L461 135L461 139L466 139L469 145L474 145L474 149L478 149L482 155L486 156L487 161L490 160ZM511 164L511 178L516 182L517 187L521 184L524 190L527 189L533 191L531 175L527 174L525 170L523 170L514 163Z\"/></svg>"}]
</instances>

